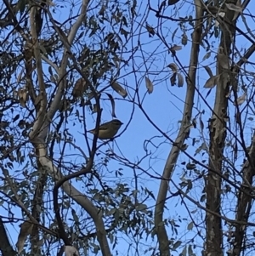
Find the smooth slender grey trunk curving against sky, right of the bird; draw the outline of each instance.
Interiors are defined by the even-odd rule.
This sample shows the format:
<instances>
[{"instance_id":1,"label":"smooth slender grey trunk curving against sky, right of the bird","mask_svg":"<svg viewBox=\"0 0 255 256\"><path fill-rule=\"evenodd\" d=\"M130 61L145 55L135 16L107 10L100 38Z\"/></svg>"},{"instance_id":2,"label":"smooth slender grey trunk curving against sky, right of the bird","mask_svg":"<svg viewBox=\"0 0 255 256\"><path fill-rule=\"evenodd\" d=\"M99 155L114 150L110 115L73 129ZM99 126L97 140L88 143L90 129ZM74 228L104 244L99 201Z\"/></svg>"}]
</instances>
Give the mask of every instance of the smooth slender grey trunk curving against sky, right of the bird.
<instances>
[{"instance_id":1,"label":"smooth slender grey trunk curving against sky, right of the bird","mask_svg":"<svg viewBox=\"0 0 255 256\"><path fill-rule=\"evenodd\" d=\"M184 105L184 114L182 118L182 124L179 128L177 139L174 142L174 145L167 157L167 162L165 168L163 170L161 185L158 191L158 196L156 198L156 208L155 208L155 226L156 226L156 236L159 242L159 250L161 256L170 256L169 250L169 239L167 236L166 226L163 223L163 213L164 213L164 204L166 202L167 197L167 187L169 185L168 180L171 179L173 175L173 169L175 163L178 160L178 155L182 145L184 144L184 140L190 134L190 120L192 117L192 108L193 101L195 95L195 76L196 76L196 68L198 65L198 56L199 56L199 48L201 42L201 33L202 33L202 14L203 11L201 9L200 0L195 0L195 26L194 31L192 33L192 46L190 53L190 68L187 77L187 92L186 99Z\"/></svg>"}]
</instances>

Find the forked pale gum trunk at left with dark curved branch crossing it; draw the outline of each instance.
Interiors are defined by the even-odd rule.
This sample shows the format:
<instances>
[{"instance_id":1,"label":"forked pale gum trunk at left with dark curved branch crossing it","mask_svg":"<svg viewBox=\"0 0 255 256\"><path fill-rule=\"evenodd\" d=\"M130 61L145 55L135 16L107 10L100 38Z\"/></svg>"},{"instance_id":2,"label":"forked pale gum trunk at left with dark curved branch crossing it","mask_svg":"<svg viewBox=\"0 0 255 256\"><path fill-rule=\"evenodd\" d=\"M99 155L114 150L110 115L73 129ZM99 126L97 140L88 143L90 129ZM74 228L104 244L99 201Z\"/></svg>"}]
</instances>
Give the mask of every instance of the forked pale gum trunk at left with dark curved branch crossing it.
<instances>
[{"instance_id":1,"label":"forked pale gum trunk at left with dark curved branch crossing it","mask_svg":"<svg viewBox=\"0 0 255 256\"><path fill-rule=\"evenodd\" d=\"M54 181L58 185L54 187L54 211L56 214L56 219L58 220L58 224L59 224L59 235L65 242L65 245L71 245L71 242L68 240L67 236L65 235L65 230L62 224L62 220L60 219L60 216L59 216L59 208L57 203L59 187L61 187L68 196L70 196L75 202L77 202L77 204L79 204L82 208L84 208L84 210L87 211L90 217L94 220L94 225L97 231L97 238L98 238L100 248L102 250L102 254L104 256L111 256L111 250L106 238L104 221L102 219L102 216L99 213L99 209L94 206L94 204L88 199L87 196L83 195L80 191L77 191L77 189L73 185L71 185L71 181L70 181L72 178L76 178L79 175L86 174L91 170L91 167L94 161L95 150L93 151L93 149L96 148L96 139L94 139L94 142L93 142L92 152L90 152L90 158L87 163L87 167L84 170L77 172L77 174L68 175L68 177L63 176L61 174L60 170L54 165L54 162L52 161L50 156L48 156L48 145L46 142L50 123L59 109L60 101L62 99L64 89L66 88L67 65L68 65L69 58L72 56L70 53L70 45L71 43L73 43L77 35L77 31L82 25L82 21L85 20L85 16L87 14L88 2L89 0L82 1L81 13L77 18L77 21L71 27L71 31L68 37L66 38L64 38L61 35L61 33L58 31L57 26L54 23L53 17L48 12L49 19L52 21L54 25L54 29L58 32L59 37L62 40L62 43L64 43L65 45L65 50L62 57L61 65L59 66L59 68L56 68L55 66L53 66L53 68L55 69L59 77L59 82L58 82L59 86L56 90L56 94L54 95L54 100L52 101L50 107L48 108L48 111L47 111L47 105L48 105L47 92L46 92L46 87L45 87L45 84L43 81L43 75L42 75L43 74L42 73L42 55L40 54L40 46L38 44L37 31L36 31L37 28L36 28L36 23L34 22L36 8L35 7L31 8L31 14L30 14L31 36L32 36L32 43L33 43L33 46L31 49L33 50L33 54L36 60L38 85L40 89L40 94L38 95L38 97L40 97L40 100L39 100L39 103L37 103L37 105L35 104L35 109L37 110L37 120L36 122L34 122L33 128L31 129L31 133L29 134L29 137L31 140L31 144L35 147L35 151L37 152L37 159L40 162L42 168L47 170L47 173L51 175L51 177L54 179ZM33 88L30 88L30 89L31 91L33 90ZM35 99L34 99L34 102L36 102ZM100 118L99 115L97 117L97 123L99 123L99 118Z\"/></svg>"}]
</instances>

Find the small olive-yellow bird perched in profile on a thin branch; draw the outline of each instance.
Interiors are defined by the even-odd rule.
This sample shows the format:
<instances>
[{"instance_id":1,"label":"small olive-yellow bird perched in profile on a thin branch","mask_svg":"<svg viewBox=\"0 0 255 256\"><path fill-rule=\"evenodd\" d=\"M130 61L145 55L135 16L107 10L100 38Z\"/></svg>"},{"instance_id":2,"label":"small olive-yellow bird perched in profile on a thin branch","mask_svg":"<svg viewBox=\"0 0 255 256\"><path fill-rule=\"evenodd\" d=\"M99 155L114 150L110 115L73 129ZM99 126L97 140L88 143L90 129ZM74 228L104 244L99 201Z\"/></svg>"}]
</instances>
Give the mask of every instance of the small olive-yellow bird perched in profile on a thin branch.
<instances>
[{"instance_id":1,"label":"small olive-yellow bird perched in profile on a thin branch","mask_svg":"<svg viewBox=\"0 0 255 256\"><path fill-rule=\"evenodd\" d=\"M118 132L119 128L122 126L122 122L118 119L113 119L110 122L104 122L99 126L99 139L112 139L116 133ZM97 128L89 130L88 133L96 134Z\"/></svg>"}]
</instances>

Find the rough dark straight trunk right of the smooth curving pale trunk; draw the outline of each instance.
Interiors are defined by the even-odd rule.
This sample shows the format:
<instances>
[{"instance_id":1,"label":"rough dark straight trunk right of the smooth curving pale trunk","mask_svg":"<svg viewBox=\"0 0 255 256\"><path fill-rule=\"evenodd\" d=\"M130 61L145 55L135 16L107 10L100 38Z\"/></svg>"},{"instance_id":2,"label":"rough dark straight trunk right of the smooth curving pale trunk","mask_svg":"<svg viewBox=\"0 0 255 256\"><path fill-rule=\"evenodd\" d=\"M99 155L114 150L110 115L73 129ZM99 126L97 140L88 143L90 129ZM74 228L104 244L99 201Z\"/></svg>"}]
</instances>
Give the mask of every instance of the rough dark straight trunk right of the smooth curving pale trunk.
<instances>
[{"instance_id":1,"label":"rough dark straight trunk right of the smooth curving pale trunk","mask_svg":"<svg viewBox=\"0 0 255 256\"><path fill-rule=\"evenodd\" d=\"M236 2L236 1L235 1ZM227 1L233 3L233 1ZM224 19L233 20L235 12L227 11ZM229 26L227 23L221 23L221 41L218 48L218 54L229 58L231 52L231 40L235 31L234 26ZM221 206L221 183L222 179L215 172L221 173L224 159L224 143L226 139L226 120L228 109L229 94L229 77L231 76L230 68L223 68L223 62L218 57L217 73L220 76L216 87L216 96L213 107L213 113L210 120L210 147L209 147L209 171L206 178L206 193L207 193L207 209L214 213L220 214ZM214 172L212 172L212 170ZM223 255L223 233L221 218L211 213L206 213L207 238L204 255L221 256Z\"/></svg>"}]
</instances>

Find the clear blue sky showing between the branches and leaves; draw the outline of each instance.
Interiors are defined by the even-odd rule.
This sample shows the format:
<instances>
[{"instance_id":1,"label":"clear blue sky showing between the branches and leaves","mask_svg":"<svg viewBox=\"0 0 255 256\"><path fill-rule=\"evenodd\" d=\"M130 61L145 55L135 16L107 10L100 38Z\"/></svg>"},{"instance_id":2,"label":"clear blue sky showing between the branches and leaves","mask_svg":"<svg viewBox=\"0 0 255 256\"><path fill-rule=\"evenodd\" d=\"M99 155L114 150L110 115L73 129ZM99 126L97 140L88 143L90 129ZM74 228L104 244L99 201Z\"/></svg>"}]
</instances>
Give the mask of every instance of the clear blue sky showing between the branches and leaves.
<instances>
[{"instance_id":1,"label":"clear blue sky showing between the branches and leaves","mask_svg":"<svg viewBox=\"0 0 255 256\"><path fill-rule=\"evenodd\" d=\"M181 1L180 1L181 2ZM67 5L67 3L66 3ZM175 9L174 7L169 8L167 10L167 14L172 16L176 13L178 13L179 16L184 17L185 15L194 14L193 13L193 6L190 5L190 3L178 3L177 7L181 6L181 9ZM144 13L144 9L146 7L146 3L144 2L142 4L142 7L140 9L141 19L142 15ZM254 3L251 3L249 9L254 9L255 5ZM75 11L75 9L73 9ZM57 12L55 14L55 17L59 19L64 19L65 17L65 9L61 10L60 13ZM148 21L148 24L150 26L156 27L157 26L157 20L154 14L149 14L146 18ZM247 19L247 22L248 19ZM176 36L174 37L174 40L172 42L172 35L173 31L175 31L175 28L177 26L176 22L173 21L166 21L162 24L162 28L164 33L167 35L167 43L169 44L177 44L181 45L181 35L182 31L178 30L176 32ZM241 26L241 29L245 29L243 26ZM145 31L145 30L143 30ZM192 32L192 29L189 27L189 30L187 31L188 39L190 40L190 33ZM133 43L137 43L138 37L133 38ZM173 62L173 57L171 54L167 53L167 48L163 46L162 44L158 47L160 41L156 39L156 36L149 37L148 33L144 33L140 37L141 43L142 43L142 51L144 55L148 56L150 54L153 54L150 57L150 60L147 60L145 63L141 59L141 53L138 53L135 57L135 62L137 65L140 66L140 72L137 73L137 77L139 80L139 84L134 79L133 74L130 74L128 76L125 76L125 71L122 70L122 76L123 78L118 80L120 83L127 83L128 87L136 88L139 87L139 96L142 99L144 97L144 103L143 108L144 111L149 115L150 119L156 123L156 126L160 128L162 131L167 133L167 135L171 139L175 139L176 134L178 133L178 127L179 122L182 118L182 111L184 108L184 96L185 96L185 82L183 88L178 88L177 86L171 87L170 81L169 81L169 75L171 72L169 72L169 68L167 68L167 65L169 63ZM212 48L212 55L210 59L201 61L200 69L197 71L197 88L199 88L201 94L204 96L207 94L207 89L203 88L204 83L208 79L207 72L202 68L202 65L211 65L213 62L215 62L214 56L217 53L218 50L218 39L212 39L215 41L214 48ZM244 39L239 39L237 37L237 45L238 47L242 48L248 48L250 46L250 43L247 43ZM128 45L129 48L131 48L131 44ZM214 52L213 52L214 51ZM200 52L200 60L203 59L203 56L206 54L206 51L201 48ZM124 55L125 56L125 55ZM190 61L190 42L183 48L182 50L177 52L178 59L181 61L182 65L185 67L189 65ZM255 62L254 56L252 56L251 61ZM214 70L215 64L212 64L212 72ZM132 65L129 67L132 68ZM145 81L144 81L144 75L146 68L148 68L150 71L146 74L147 77L150 77L150 80L153 81L155 87L152 94L146 93L145 88ZM157 149L154 145L149 145L149 151L152 152L152 155L150 157L147 157L141 164L141 167L146 169L147 172L153 176L157 176L158 174L161 174L165 161L167 159L167 155L169 151L171 150L171 144L164 138L161 137L161 134L154 128L150 122L144 117L144 114L142 111L139 110L138 106L135 106L135 111L132 116L132 121L126 127L128 121L130 120L132 111L133 111L133 104L128 101L128 99L132 99L133 91L129 90L129 95L126 99L122 99L121 96L116 94L116 92L113 92L109 90L109 93L112 93L115 102L116 102L116 116L118 119L120 119L122 122L124 122L124 125L121 129L121 132L123 128L127 128L125 132L121 135L121 137L117 138L114 142L114 151L116 154L122 153L123 156L125 156L127 159L129 159L131 162L136 162L138 159L144 156L144 141L156 136L155 139L152 139L154 145L157 145ZM241 92L240 92L241 93ZM214 94L215 94L215 88L212 89L211 94L207 97L207 102L213 107L213 100L214 100ZM111 120L111 103L107 99L105 95L102 95L101 100L101 106L103 107L103 113L102 113L102 122ZM207 120L211 116L211 111L207 108L207 106L204 104L204 102L196 95L195 96L195 108L201 110L205 110L205 114L202 116L202 120L205 124L205 128L207 127ZM229 116L234 117L235 109L234 107L230 108ZM86 123L88 128L94 128L94 118L95 115L91 115L89 111L86 112ZM194 109L193 116L197 114L197 111ZM251 124L252 127L252 124ZM76 143L79 147L81 147L85 152L87 151L83 136L83 129L82 126L79 123L76 123L75 126L73 126L73 122L69 122L68 124L69 132L75 137ZM249 139L250 130L249 128L246 130L246 138ZM204 136L207 141L208 134L207 130L204 129ZM88 135L89 138L93 138L92 135ZM197 138L197 142L195 146L192 146L192 138ZM190 133L190 139L186 141L186 143L189 145L188 152L191 156L195 154L196 148L201 145L202 143L200 131L198 129L192 129ZM207 141L208 142L208 141ZM100 142L99 142L100 143ZM109 145L105 145L101 148L101 155L105 153L105 151L108 148L112 147L112 143ZM118 150L121 150L121 153ZM56 152L57 153L57 152ZM74 151L73 148L70 148L69 151L66 151L65 154L72 153L76 154L77 151ZM100 156L96 159L96 162L100 162ZM68 160L72 159L72 161L76 162L82 162L82 158L79 156L69 156L65 159ZM149 162L150 159L150 162ZM196 159L207 159L207 156L196 156ZM175 168L175 172L173 175L173 181L178 184L180 182L180 178L183 176L185 172L185 166L181 165L181 162L188 162L187 156L184 156L181 154L178 158L178 164ZM241 162L237 162L240 164ZM117 161L111 161L108 164L108 170L102 168L102 172L104 174L104 180L108 180L109 184L112 184L111 181L115 180L115 173L113 170L116 170L117 168L123 168L123 176L122 179L120 179L123 183L130 183L132 186L134 185L134 179L133 179L133 171L130 168L123 167L123 164L120 164ZM19 168L21 169L21 168ZM159 180L151 178L148 174L144 174L143 172L137 171L139 174L139 185L146 186L149 190L153 191L154 195L156 196L156 193L158 191L159 186ZM203 182L198 181L196 183L196 187L193 191L191 191L191 196L195 198L195 200L199 201L201 197L201 189ZM77 183L77 188L79 188L81 191L86 191L84 186L81 183ZM172 187L171 187L172 189ZM173 189L174 191L174 189ZM59 192L60 194L61 192ZM230 198L231 199L231 198ZM231 201L231 200L230 200ZM235 200L234 200L235 202ZM147 203L148 207L153 206L154 202L152 199L150 199ZM190 206L190 208L194 208L194 206L191 204L191 202L187 202L187 205ZM188 216L187 211L184 208L184 204L181 203L180 199L178 197L173 197L169 201L167 201L167 208L165 212L166 218L173 218L178 219L178 216L180 218L187 218L187 220L183 220L182 224L180 225L180 228L178 228L178 238L181 237L181 240L186 241L187 239L190 239L195 235L195 229L193 231L187 232L186 227L190 223L190 217ZM77 208L78 212L78 208ZM2 213L1 215L4 215L6 213ZM20 216L20 210L17 210L15 212L15 217L21 218ZM231 213L229 213L231 215ZM231 216L229 216L231 217ZM233 217L233 216L232 216ZM199 221L203 220L203 214L200 210L195 213L194 216L195 219ZM178 223L179 225L179 223ZM17 236L19 233L19 228L17 225L14 227L11 227L11 225L8 225L8 232L9 237L13 240L13 243L15 244L17 241ZM177 236L172 235L172 231L169 229L169 238L176 238ZM124 237L122 242L120 242L120 245L116 247L118 252L120 254L125 254L127 252L127 237ZM146 243L146 242L144 242ZM197 239L195 242L198 246L196 249L197 251L200 251L199 246L202 245L201 240ZM144 250L144 246L140 246L140 250ZM180 251L182 248L180 249ZM134 251L132 251L134 254ZM131 253L131 254L132 254ZM179 253L179 252L178 252ZM174 253L173 255L178 255L178 253Z\"/></svg>"}]
</instances>

